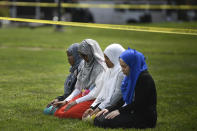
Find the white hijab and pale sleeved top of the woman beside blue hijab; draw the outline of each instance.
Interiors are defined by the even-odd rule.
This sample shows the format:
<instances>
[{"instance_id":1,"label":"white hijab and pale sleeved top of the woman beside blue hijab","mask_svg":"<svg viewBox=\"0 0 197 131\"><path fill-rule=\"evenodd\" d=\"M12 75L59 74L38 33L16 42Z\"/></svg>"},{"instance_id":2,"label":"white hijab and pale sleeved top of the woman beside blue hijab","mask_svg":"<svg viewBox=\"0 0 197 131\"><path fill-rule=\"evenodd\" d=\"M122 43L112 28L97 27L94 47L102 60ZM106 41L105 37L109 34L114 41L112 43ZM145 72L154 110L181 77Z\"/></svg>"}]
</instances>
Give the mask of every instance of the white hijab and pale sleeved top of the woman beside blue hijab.
<instances>
[{"instance_id":1,"label":"white hijab and pale sleeved top of the woman beside blue hijab","mask_svg":"<svg viewBox=\"0 0 197 131\"><path fill-rule=\"evenodd\" d=\"M119 56L124 51L125 49L119 44L111 44L105 49L104 54L114 64L114 67L108 68L103 75L102 80L99 81L100 83L103 83L103 87L92 106L101 103L99 108L104 109L106 106L110 106L113 101L116 102L117 98L119 98L119 96L113 96L113 94L115 93L115 90L119 90L119 95L121 94L120 85L123 79L123 73L119 64Z\"/></svg>"}]
</instances>

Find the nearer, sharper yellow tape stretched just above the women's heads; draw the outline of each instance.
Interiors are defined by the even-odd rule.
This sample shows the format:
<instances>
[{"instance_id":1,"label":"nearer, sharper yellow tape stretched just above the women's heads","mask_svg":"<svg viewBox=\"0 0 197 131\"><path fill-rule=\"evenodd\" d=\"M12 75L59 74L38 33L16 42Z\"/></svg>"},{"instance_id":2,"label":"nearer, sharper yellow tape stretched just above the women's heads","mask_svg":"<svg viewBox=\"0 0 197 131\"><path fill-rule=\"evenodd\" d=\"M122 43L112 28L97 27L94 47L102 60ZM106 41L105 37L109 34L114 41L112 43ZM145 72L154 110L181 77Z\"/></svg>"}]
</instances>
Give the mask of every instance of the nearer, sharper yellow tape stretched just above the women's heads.
<instances>
[{"instance_id":1,"label":"nearer, sharper yellow tape stretched just above the women's heads","mask_svg":"<svg viewBox=\"0 0 197 131\"><path fill-rule=\"evenodd\" d=\"M0 20L53 24L53 25L63 25L63 26L78 26L78 27L128 30L128 31L143 31L143 32L168 33L168 34L170 33L170 34L197 35L196 29L176 29L176 28L143 27L143 26L130 26L130 25L95 24L95 23L65 22L65 21L51 21L51 20L10 18L10 17L0 17Z\"/></svg>"}]
</instances>

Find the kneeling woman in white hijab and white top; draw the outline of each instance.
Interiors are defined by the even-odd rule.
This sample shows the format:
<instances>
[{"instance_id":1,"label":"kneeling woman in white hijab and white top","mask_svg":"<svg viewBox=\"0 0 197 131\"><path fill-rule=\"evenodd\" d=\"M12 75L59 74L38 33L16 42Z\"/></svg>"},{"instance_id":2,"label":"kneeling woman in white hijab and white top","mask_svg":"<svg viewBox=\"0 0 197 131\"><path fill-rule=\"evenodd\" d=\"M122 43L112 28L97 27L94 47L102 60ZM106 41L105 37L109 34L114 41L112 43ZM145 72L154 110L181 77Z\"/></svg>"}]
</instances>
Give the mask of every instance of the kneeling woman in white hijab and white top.
<instances>
[{"instance_id":1,"label":"kneeling woman in white hijab and white top","mask_svg":"<svg viewBox=\"0 0 197 131\"><path fill-rule=\"evenodd\" d=\"M100 81L103 87L94 103L83 114L84 119L113 105L121 98L120 86L124 75L119 64L119 56L124 51L125 49L119 44L111 44L105 49L104 56L108 69Z\"/></svg>"}]
</instances>

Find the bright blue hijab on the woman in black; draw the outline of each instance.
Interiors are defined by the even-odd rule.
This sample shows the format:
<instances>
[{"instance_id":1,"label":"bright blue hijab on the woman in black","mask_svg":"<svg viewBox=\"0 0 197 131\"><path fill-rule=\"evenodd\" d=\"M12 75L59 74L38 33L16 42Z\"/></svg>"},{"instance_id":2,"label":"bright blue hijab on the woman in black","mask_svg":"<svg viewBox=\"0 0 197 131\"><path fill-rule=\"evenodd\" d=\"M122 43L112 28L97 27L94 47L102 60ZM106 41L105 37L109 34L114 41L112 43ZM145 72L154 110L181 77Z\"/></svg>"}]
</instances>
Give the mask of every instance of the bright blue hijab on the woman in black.
<instances>
[{"instance_id":1,"label":"bright blue hijab on the woman in black","mask_svg":"<svg viewBox=\"0 0 197 131\"><path fill-rule=\"evenodd\" d=\"M123 100L130 104L133 101L133 95L135 91L136 82L140 73L147 70L145 57L142 53L128 48L124 51L120 58L129 66L130 72L128 76L122 81L121 91Z\"/></svg>"}]
</instances>

